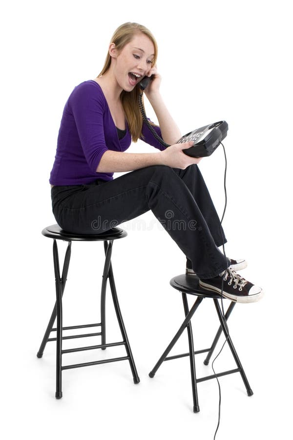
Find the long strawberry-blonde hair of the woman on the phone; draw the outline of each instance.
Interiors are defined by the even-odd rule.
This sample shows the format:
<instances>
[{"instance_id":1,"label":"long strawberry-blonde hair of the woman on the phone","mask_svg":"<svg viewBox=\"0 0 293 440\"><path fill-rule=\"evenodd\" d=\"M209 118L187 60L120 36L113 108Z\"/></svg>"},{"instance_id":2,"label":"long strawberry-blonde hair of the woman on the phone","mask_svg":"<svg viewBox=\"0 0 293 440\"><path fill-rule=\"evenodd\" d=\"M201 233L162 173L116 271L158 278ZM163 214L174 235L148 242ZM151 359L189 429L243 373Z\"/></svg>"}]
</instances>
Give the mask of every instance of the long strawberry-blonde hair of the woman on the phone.
<instances>
[{"instance_id":1,"label":"long strawberry-blonde hair of the woman on the phone","mask_svg":"<svg viewBox=\"0 0 293 440\"><path fill-rule=\"evenodd\" d=\"M124 24L121 24L121 26L119 26L115 30L110 43L115 43L116 49L118 50L118 53L120 53L120 51L124 48L124 46L132 40L133 36L139 32L144 33L154 45L155 54L151 65L153 67L157 62L158 46L152 33L142 24L131 23L131 22L126 22ZM104 75L104 73L110 68L110 65L111 65L111 57L108 52L105 59L104 67L97 76L97 78ZM125 90L122 90L120 94L120 100L122 103L123 110L125 111L126 114L126 120L128 123L129 131L133 142L137 142L139 137L142 136L143 117L138 105L139 93L141 93L141 89L139 87L139 84L137 84L130 92L126 92ZM144 106L143 96L142 96L142 103ZM155 124L152 123L151 125L155 126Z\"/></svg>"}]
</instances>

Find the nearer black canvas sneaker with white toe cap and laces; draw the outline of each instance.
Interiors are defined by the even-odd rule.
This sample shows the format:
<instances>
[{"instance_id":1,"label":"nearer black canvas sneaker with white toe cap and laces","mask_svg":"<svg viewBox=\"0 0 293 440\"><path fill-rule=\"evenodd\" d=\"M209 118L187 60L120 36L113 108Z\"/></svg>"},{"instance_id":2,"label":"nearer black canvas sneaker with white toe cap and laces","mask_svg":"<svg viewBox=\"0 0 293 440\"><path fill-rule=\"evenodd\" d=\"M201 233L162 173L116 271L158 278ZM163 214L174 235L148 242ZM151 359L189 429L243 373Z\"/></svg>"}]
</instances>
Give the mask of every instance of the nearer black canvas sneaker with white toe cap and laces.
<instances>
[{"instance_id":1,"label":"nearer black canvas sneaker with white toe cap and laces","mask_svg":"<svg viewBox=\"0 0 293 440\"><path fill-rule=\"evenodd\" d=\"M221 294L223 277L223 296L231 301L237 303L254 303L260 300L264 295L264 291L261 287L254 286L230 268L224 270L224 272L215 278L199 280L199 286L203 289Z\"/></svg>"}]
</instances>

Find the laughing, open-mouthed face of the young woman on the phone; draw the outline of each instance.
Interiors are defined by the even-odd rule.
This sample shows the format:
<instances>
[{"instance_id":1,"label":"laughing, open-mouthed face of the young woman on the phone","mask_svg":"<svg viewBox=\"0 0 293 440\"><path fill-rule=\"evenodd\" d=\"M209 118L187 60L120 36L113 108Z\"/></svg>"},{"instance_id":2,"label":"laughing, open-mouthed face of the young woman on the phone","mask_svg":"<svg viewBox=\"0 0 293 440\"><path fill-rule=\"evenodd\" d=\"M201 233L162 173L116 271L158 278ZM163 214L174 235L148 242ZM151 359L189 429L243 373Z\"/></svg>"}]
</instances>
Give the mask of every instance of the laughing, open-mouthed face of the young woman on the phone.
<instances>
[{"instance_id":1,"label":"laughing, open-mouthed face of the young woman on the phone","mask_svg":"<svg viewBox=\"0 0 293 440\"><path fill-rule=\"evenodd\" d=\"M110 45L109 51L116 81L122 89L131 91L150 71L155 53L154 45L145 34L140 32L124 46L119 55L114 44L113 46L111 49Z\"/></svg>"}]
</instances>

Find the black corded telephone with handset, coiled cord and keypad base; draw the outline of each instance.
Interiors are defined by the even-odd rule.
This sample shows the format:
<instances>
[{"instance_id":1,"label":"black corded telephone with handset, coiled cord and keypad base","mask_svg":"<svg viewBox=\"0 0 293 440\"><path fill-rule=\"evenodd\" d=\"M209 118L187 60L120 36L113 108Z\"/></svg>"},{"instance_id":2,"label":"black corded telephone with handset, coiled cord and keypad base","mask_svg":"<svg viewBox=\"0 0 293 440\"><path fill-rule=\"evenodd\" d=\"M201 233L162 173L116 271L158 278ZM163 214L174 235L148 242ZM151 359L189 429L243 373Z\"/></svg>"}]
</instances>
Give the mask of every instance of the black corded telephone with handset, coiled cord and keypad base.
<instances>
[{"instance_id":1,"label":"black corded telephone with handset, coiled cord and keypad base","mask_svg":"<svg viewBox=\"0 0 293 440\"><path fill-rule=\"evenodd\" d=\"M153 75L150 77L145 76L140 82L139 86L141 88L141 93L138 95L138 103L140 107L140 111L142 113L143 119L146 122L147 127L152 132L154 137L164 146L169 147L167 144L154 130L154 128L149 123L146 113L144 110L144 106L142 103L142 94L143 90L147 87L149 82L152 80ZM187 154L191 157L205 157L210 156L215 149L220 145L221 141L227 136L228 124L226 121L218 121L213 124L205 125L204 127L200 127L199 129L193 130L182 136L176 144L182 144L184 142L193 141L193 146L190 148L186 148L183 153Z\"/></svg>"}]
</instances>

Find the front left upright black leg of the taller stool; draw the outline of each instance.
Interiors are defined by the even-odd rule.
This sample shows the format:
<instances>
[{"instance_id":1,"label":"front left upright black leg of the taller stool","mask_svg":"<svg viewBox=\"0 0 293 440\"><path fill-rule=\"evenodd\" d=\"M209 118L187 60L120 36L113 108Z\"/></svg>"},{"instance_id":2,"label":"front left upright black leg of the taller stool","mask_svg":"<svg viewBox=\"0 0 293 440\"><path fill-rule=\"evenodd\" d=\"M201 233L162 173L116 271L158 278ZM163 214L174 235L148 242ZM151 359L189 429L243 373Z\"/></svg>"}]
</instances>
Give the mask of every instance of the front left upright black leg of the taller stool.
<instances>
[{"instance_id":1,"label":"front left upright black leg of the taller stool","mask_svg":"<svg viewBox=\"0 0 293 440\"><path fill-rule=\"evenodd\" d=\"M58 247L56 240L53 242L54 271L56 284L56 310L57 310L57 344L56 344L56 393L55 397L62 397L62 282L60 278Z\"/></svg>"}]
</instances>

